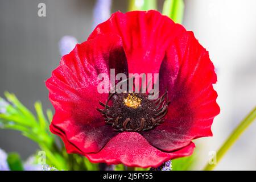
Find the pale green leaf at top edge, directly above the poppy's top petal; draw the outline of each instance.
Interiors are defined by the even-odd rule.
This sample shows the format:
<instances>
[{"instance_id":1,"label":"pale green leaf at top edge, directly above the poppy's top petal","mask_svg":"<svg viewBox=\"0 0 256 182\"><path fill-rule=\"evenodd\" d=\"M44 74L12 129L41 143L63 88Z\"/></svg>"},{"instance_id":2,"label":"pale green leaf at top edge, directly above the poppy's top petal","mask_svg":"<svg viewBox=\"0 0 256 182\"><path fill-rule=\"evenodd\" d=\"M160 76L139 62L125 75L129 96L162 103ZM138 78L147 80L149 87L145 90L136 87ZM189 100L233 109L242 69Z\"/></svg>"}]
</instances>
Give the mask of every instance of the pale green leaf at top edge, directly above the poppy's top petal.
<instances>
[{"instance_id":1,"label":"pale green leaf at top edge, directly above the poppy's top petal","mask_svg":"<svg viewBox=\"0 0 256 182\"><path fill-rule=\"evenodd\" d=\"M156 0L130 0L129 11L147 11L156 9Z\"/></svg>"}]
</instances>

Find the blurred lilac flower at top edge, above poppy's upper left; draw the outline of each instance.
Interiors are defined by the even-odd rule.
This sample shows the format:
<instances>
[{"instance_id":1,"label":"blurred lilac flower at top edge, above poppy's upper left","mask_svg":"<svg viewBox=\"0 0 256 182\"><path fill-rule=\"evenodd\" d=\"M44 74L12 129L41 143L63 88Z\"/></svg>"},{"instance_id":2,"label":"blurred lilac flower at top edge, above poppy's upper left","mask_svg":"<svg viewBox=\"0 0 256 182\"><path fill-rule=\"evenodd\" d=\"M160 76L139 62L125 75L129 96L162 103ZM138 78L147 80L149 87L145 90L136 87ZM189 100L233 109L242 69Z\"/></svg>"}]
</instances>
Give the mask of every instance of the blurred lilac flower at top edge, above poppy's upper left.
<instances>
[{"instance_id":1,"label":"blurred lilac flower at top edge, above poppy's upper left","mask_svg":"<svg viewBox=\"0 0 256 182\"><path fill-rule=\"evenodd\" d=\"M112 0L97 0L93 11L93 29L110 18Z\"/></svg>"}]
</instances>

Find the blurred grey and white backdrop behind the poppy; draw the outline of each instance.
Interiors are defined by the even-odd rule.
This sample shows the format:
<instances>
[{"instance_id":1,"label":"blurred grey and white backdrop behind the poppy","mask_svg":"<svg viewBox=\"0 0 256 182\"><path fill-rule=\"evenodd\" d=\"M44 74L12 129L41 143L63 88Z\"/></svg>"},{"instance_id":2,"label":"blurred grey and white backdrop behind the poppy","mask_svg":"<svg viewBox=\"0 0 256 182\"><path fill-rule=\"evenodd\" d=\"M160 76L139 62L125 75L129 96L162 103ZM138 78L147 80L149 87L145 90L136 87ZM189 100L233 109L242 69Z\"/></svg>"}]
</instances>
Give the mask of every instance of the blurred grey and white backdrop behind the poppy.
<instances>
[{"instance_id":1,"label":"blurred grey and white backdrop behind the poppy","mask_svg":"<svg viewBox=\"0 0 256 182\"><path fill-rule=\"evenodd\" d=\"M38 4L46 4L46 17L38 16ZM183 25L208 49L218 75L215 88L221 113L214 119L212 138L197 139L202 169L209 152L217 151L234 127L256 104L256 1L185 0ZM65 35L84 42L93 30L89 0L0 0L0 96L13 92L29 109L42 101L52 106L44 81L61 58L59 41ZM112 2L112 13L126 12L129 1ZM163 1L158 1L162 11ZM53 109L52 109L53 110ZM249 127L217 170L256 169L256 122ZM0 148L17 151L26 159L37 145L19 132L0 130Z\"/></svg>"}]
</instances>

